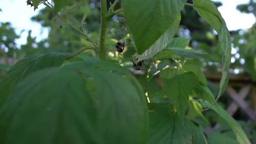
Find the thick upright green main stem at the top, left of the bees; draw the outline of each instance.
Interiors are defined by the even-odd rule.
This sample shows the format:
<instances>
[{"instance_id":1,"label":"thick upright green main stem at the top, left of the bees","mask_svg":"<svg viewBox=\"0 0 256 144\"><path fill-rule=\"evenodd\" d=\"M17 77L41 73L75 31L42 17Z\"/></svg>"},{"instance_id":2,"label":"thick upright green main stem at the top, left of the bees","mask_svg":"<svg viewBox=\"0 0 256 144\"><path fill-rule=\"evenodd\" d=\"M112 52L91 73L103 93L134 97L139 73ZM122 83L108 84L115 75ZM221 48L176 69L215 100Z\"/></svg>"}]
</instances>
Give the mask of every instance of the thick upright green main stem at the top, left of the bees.
<instances>
[{"instance_id":1,"label":"thick upright green main stem at the top, left of the bees","mask_svg":"<svg viewBox=\"0 0 256 144\"><path fill-rule=\"evenodd\" d=\"M100 14L101 14L101 25L100 25L100 59L106 59L105 39L107 34L107 2L106 0L100 1Z\"/></svg>"}]
</instances>

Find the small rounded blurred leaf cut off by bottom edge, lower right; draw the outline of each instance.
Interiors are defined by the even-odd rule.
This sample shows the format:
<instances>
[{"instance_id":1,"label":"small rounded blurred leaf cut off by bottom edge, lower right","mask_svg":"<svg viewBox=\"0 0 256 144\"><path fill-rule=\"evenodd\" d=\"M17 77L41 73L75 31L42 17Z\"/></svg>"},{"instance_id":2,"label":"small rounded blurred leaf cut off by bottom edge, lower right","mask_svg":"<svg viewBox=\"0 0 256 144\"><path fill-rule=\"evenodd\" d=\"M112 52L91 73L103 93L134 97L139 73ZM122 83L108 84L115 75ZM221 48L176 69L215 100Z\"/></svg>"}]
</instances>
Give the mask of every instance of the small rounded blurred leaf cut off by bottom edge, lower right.
<instances>
[{"instance_id":1,"label":"small rounded blurred leaf cut off by bottom edge, lower right","mask_svg":"<svg viewBox=\"0 0 256 144\"><path fill-rule=\"evenodd\" d=\"M208 141L210 143L218 143L218 144L238 144L237 140L232 139L228 137L226 134L221 134L221 133L211 133L207 135Z\"/></svg>"}]
</instances>

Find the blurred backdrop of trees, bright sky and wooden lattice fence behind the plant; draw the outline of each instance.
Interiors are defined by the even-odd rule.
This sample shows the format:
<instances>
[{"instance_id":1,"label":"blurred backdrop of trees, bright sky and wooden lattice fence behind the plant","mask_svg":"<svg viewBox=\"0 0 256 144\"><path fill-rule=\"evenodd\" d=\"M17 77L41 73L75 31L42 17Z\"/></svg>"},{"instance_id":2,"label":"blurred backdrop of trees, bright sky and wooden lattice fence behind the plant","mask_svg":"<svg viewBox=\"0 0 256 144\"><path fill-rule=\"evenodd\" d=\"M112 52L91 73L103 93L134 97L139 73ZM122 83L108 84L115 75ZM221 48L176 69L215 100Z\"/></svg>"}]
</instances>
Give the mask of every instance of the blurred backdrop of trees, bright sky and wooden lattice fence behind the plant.
<instances>
[{"instance_id":1,"label":"blurred backdrop of trees, bright sky and wooden lattice fence behind the plant","mask_svg":"<svg viewBox=\"0 0 256 144\"><path fill-rule=\"evenodd\" d=\"M109 2L113 1L108 1L108 4ZM191 1L188 2L191 3ZM220 103L239 121L247 136L255 143L256 1L214 0L214 3L218 6L230 30L233 55L229 70L229 86ZM73 25L83 29L96 41L99 41L99 4L98 0L77 0L75 7L70 5L65 10ZM190 47L210 53L214 59L221 60L216 31L200 18L193 8L185 6L181 13L181 25L177 36L190 38ZM109 51L115 51L113 49L116 42L127 36L125 25L118 21L120 17L122 18L122 13L116 15L109 23L107 35ZM86 18L85 22L83 22L84 18ZM56 19L54 13L47 10L44 5L39 5L34 11L25 0L0 1L0 79L15 62L27 55L74 52L88 45L90 43L70 29L66 23ZM129 59L134 52L134 49L125 51L124 59ZM221 78L220 63L202 60L199 65L202 66L207 78L207 85L214 94L217 94ZM219 137L215 132L231 135L229 126L222 122L218 115L207 113L206 117L210 119L212 127L209 127L205 133L211 134L212 140ZM197 123L203 122L198 120Z\"/></svg>"}]
</instances>

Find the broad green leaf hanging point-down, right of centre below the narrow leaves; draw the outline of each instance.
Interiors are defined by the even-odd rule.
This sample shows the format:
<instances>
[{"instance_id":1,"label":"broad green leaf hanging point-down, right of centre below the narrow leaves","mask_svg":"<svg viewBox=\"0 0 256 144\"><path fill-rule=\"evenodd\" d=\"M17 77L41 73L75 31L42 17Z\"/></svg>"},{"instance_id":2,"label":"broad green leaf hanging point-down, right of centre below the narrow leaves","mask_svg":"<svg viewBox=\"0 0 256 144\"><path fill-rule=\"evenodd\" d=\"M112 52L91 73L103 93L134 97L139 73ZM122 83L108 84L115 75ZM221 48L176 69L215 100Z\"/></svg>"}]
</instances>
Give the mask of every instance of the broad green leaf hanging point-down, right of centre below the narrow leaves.
<instances>
[{"instance_id":1,"label":"broad green leaf hanging point-down, right of centre below the narrow leaves","mask_svg":"<svg viewBox=\"0 0 256 144\"><path fill-rule=\"evenodd\" d=\"M171 98L181 117L188 107L189 95L198 85L197 77L192 72L176 75L167 81L167 85L163 85L163 91Z\"/></svg>"}]
</instances>

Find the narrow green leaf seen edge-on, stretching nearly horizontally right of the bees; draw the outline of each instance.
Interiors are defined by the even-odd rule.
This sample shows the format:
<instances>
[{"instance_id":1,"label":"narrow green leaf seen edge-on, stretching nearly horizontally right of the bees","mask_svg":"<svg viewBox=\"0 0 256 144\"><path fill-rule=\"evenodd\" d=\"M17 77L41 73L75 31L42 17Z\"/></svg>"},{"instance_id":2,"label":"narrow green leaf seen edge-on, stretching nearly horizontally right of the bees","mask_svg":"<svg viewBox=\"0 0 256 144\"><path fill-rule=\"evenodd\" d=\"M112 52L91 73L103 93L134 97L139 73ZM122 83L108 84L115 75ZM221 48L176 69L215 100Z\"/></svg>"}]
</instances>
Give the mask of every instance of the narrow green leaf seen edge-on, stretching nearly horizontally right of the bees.
<instances>
[{"instance_id":1,"label":"narrow green leaf seen edge-on, stretching nearly horizontally right of the bees","mask_svg":"<svg viewBox=\"0 0 256 144\"><path fill-rule=\"evenodd\" d=\"M168 47L166 50L170 50L174 52L175 54L182 56L182 57L187 57L187 58L200 58L200 59L205 59L208 61L213 61L215 62L211 55L201 52L201 51L195 51L195 50L187 50L187 49L180 49L176 47Z\"/></svg>"}]
</instances>

